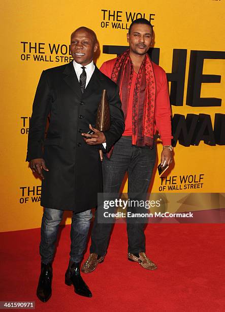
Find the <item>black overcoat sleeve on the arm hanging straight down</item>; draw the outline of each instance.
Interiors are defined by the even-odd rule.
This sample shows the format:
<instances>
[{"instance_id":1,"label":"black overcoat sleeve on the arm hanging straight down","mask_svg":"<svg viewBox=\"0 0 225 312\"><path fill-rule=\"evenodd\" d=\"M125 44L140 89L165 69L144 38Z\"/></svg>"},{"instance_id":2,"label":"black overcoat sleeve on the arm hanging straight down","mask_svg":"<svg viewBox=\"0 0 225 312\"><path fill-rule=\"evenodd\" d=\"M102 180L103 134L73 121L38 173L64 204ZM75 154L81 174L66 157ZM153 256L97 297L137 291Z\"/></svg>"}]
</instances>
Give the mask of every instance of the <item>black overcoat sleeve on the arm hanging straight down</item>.
<instances>
[{"instance_id":1,"label":"black overcoat sleeve on the arm hanging straight down","mask_svg":"<svg viewBox=\"0 0 225 312\"><path fill-rule=\"evenodd\" d=\"M51 95L46 72L43 71L39 80L33 113L30 119L26 161L43 158L42 144L45 137L45 127L50 112Z\"/></svg>"}]
</instances>

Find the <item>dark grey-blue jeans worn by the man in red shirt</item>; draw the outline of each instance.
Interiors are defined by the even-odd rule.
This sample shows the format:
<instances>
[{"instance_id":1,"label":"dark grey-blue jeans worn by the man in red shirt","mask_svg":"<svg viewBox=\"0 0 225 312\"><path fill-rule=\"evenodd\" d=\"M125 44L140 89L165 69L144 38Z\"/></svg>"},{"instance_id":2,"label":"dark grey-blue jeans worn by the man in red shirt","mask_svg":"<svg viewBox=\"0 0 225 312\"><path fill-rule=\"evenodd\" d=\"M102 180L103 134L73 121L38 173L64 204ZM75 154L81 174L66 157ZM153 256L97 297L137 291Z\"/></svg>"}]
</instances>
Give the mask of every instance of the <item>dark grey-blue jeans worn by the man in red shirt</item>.
<instances>
[{"instance_id":1,"label":"dark grey-blue jeans worn by the man in red shirt","mask_svg":"<svg viewBox=\"0 0 225 312\"><path fill-rule=\"evenodd\" d=\"M146 194L155 166L155 147L138 147L132 145L130 137L121 137L115 144L110 160L104 155L103 191L105 193L119 193L123 178L127 172L128 197L132 193L138 199L146 200ZM105 255L112 229L110 223L98 223L98 213L95 212L91 231L90 252ZM145 224L127 222L128 252L145 252Z\"/></svg>"}]
</instances>

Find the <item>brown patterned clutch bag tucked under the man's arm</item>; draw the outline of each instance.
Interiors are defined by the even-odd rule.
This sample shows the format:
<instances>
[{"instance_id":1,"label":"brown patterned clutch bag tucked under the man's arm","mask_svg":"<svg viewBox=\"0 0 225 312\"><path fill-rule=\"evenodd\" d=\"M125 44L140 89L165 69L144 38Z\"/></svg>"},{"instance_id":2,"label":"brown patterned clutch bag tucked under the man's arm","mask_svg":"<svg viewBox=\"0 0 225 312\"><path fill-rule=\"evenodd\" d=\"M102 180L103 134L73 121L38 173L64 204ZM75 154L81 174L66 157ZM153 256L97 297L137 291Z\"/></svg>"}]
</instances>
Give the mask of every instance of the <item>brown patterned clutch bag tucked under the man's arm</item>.
<instances>
[{"instance_id":1,"label":"brown patterned clutch bag tucked under the man's arm","mask_svg":"<svg viewBox=\"0 0 225 312\"><path fill-rule=\"evenodd\" d=\"M106 90L103 90L102 92L102 99L98 107L95 128L97 128L99 131L107 131L110 128L110 109Z\"/></svg>"}]
</instances>

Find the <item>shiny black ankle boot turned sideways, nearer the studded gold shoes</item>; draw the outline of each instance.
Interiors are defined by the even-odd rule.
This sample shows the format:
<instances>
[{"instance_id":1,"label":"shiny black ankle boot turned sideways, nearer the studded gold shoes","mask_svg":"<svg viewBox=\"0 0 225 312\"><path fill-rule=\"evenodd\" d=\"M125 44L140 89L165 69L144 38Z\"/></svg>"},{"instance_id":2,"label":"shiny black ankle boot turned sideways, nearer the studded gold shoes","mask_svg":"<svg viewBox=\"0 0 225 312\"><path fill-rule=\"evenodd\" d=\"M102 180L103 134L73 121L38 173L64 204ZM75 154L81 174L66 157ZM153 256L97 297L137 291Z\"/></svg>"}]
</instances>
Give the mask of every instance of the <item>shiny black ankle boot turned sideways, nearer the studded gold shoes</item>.
<instances>
[{"instance_id":1,"label":"shiny black ankle boot turned sideways, nearer the studded gold shoes","mask_svg":"<svg viewBox=\"0 0 225 312\"><path fill-rule=\"evenodd\" d=\"M71 262L65 274L65 283L68 286L74 285L76 294L84 297L92 297L92 294L80 275L80 263Z\"/></svg>"}]
</instances>

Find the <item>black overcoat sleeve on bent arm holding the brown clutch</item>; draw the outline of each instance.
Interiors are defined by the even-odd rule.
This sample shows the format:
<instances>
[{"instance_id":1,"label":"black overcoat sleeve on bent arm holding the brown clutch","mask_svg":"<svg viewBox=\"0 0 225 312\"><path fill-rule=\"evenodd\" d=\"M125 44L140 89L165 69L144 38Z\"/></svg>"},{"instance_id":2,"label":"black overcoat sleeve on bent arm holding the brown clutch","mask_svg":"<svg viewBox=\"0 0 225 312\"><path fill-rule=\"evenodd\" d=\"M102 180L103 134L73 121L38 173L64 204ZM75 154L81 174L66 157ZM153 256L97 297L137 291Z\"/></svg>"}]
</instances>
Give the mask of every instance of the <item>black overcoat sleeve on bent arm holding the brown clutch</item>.
<instances>
[{"instance_id":1,"label":"black overcoat sleeve on bent arm holding the brown clutch","mask_svg":"<svg viewBox=\"0 0 225 312\"><path fill-rule=\"evenodd\" d=\"M114 94L108 98L110 108L111 126L108 131L104 131L106 137L106 151L109 152L113 144L121 137L124 132L124 115L121 109L119 97L119 87L115 85Z\"/></svg>"}]
</instances>

